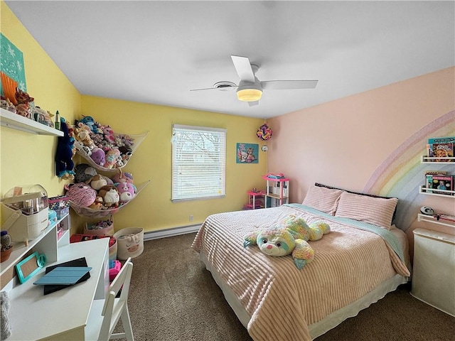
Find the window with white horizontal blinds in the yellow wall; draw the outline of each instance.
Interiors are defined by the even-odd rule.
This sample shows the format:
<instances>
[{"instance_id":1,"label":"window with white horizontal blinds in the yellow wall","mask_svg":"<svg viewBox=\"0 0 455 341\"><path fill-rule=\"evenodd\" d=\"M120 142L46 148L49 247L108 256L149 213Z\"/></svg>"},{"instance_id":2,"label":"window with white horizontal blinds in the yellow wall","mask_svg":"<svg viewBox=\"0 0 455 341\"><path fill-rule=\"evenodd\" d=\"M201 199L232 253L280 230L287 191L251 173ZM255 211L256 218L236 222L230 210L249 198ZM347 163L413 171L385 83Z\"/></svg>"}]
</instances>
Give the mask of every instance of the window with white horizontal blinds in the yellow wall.
<instances>
[{"instance_id":1,"label":"window with white horizontal blinds in the yellow wall","mask_svg":"<svg viewBox=\"0 0 455 341\"><path fill-rule=\"evenodd\" d=\"M226 130L172 126L172 201L223 197Z\"/></svg>"}]
</instances>

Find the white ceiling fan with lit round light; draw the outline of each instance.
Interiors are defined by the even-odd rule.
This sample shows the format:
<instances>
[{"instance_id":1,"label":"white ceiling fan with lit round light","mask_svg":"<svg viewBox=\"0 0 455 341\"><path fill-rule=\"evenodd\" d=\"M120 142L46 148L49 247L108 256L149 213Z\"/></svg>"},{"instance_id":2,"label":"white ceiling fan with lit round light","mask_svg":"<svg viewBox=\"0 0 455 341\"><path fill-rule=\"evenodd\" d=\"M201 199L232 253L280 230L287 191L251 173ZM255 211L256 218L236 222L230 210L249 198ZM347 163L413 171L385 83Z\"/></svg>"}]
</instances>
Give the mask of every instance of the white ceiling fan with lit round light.
<instances>
[{"instance_id":1,"label":"white ceiling fan with lit round light","mask_svg":"<svg viewBox=\"0 0 455 341\"><path fill-rule=\"evenodd\" d=\"M248 102L250 107L259 104L262 97L262 90L291 90L291 89L314 89L318 84L317 80L265 80L259 81L256 72L259 67L250 63L247 57L231 55L237 75L240 77L239 85L232 82L217 82L213 87L205 89L193 89L190 91L201 90L233 90L237 88L237 99Z\"/></svg>"}]
</instances>

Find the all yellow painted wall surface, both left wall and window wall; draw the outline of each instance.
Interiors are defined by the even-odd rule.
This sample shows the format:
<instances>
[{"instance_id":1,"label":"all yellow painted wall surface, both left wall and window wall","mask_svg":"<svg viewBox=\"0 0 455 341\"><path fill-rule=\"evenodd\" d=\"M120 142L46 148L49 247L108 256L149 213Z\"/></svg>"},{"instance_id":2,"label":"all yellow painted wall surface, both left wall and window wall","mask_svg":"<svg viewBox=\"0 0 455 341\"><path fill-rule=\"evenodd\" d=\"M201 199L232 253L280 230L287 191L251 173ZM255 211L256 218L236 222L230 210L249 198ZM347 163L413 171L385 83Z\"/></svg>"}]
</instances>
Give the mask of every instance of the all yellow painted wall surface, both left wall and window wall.
<instances>
[{"instance_id":1,"label":"all yellow painted wall surface, both left wall and window wall","mask_svg":"<svg viewBox=\"0 0 455 341\"><path fill-rule=\"evenodd\" d=\"M202 222L215 212L240 210L247 202L247 190L263 188L261 175L267 169L267 154L259 151L258 164L235 163L237 142L260 144L256 137L262 119L236 117L190 109L161 107L99 97L81 96L53 63L8 6L1 4L1 33L22 51L27 92L35 104L52 113L59 111L69 122L82 114L92 116L114 131L139 134L150 131L124 169L134 183L151 183L114 216L115 229L138 226L146 230L178 227ZM216 200L171 203L171 125L189 124L228 129L226 196ZM38 136L6 127L0 128L0 195L16 185L40 184L49 196L63 194L68 181L55 176L57 138ZM81 162L79 157L75 162ZM189 222L193 215L193 222ZM82 232L84 219L72 213L73 232Z\"/></svg>"}]
</instances>

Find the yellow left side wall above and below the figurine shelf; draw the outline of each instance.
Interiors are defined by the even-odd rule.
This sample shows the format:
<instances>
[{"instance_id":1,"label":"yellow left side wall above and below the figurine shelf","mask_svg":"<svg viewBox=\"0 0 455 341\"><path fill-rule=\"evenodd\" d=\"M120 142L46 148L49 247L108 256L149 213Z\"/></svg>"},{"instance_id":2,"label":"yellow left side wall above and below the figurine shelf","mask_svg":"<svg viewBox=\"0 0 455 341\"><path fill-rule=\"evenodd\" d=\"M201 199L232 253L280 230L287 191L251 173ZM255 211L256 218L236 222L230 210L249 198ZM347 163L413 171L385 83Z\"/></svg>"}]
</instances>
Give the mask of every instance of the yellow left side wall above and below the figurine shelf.
<instances>
[{"instance_id":1,"label":"yellow left side wall above and below the figurine shelf","mask_svg":"<svg viewBox=\"0 0 455 341\"><path fill-rule=\"evenodd\" d=\"M73 121L80 115L80 94L53 63L8 6L0 2L1 33L22 51L27 92L35 104L59 111ZM64 181L55 176L57 138L0 128L0 195L16 185L41 184L49 196L63 194Z\"/></svg>"}]
</instances>

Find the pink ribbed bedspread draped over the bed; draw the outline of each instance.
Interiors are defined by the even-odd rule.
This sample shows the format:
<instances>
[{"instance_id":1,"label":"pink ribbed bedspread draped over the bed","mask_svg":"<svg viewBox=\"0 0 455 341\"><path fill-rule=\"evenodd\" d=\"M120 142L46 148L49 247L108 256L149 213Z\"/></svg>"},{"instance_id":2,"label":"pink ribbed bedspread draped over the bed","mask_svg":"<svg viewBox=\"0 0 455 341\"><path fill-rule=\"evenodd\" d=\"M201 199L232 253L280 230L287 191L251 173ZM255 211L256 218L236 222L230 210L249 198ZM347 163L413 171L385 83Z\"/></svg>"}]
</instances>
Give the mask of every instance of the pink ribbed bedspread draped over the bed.
<instances>
[{"instance_id":1,"label":"pink ribbed bedspread draped over the bed","mask_svg":"<svg viewBox=\"0 0 455 341\"><path fill-rule=\"evenodd\" d=\"M220 213L205 220L193 241L250 314L247 329L254 340L311 340L308 325L397 273L410 276L382 237L330 220L331 233L309 242L315 258L301 270L291 256L270 257L242 246L247 232L291 214L307 223L321 220L287 206Z\"/></svg>"}]
</instances>

